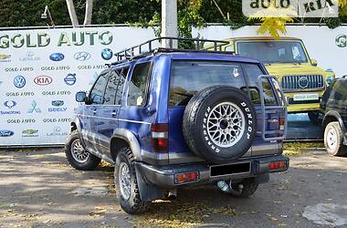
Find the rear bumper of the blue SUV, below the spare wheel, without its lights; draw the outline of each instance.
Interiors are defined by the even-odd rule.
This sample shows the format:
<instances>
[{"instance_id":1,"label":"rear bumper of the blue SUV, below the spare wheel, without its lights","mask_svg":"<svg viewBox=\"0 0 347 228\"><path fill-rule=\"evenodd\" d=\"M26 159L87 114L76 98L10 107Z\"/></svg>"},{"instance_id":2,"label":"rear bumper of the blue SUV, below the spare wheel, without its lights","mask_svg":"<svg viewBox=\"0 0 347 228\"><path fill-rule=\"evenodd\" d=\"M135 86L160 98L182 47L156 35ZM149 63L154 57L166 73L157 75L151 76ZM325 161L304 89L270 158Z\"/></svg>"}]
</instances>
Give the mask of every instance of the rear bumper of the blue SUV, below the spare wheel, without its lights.
<instances>
[{"instance_id":1,"label":"rear bumper of the blue SUV, below the spare wheel, without its lights","mask_svg":"<svg viewBox=\"0 0 347 228\"><path fill-rule=\"evenodd\" d=\"M280 170L270 171L269 164L273 161L284 161L285 167ZM231 171L234 173L223 175L211 175L211 168L244 163L249 163L248 171ZM289 169L289 158L284 157L282 155L277 155L257 159L253 158L251 160L236 161L235 163L226 165L214 166L208 164L184 164L170 166L153 166L142 162L136 162L135 168L137 173L141 174L145 181L162 188L170 189L220 180L240 180L245 178L258 177L263 174L268 174L270 172L287 171ZM175 180L177 174L191 171L198 172L198 179L196 181L177 183L177 181Z\"/></svg>"}]
</instances>

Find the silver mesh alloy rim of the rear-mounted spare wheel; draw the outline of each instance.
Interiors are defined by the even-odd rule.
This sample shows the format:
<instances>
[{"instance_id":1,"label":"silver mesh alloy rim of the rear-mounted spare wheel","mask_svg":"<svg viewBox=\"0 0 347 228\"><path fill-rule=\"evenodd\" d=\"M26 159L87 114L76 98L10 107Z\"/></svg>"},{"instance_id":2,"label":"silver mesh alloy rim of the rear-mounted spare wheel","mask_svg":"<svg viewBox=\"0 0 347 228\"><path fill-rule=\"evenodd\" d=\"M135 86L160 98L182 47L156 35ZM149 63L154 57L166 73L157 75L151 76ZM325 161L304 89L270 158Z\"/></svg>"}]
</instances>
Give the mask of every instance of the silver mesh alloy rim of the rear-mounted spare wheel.
<instances>
[{"instance_id":1,"label":"silver mesh alloy rim of the rear-mounted spare wheel","mask_svg":"<svg viewBox=\"0 0 347 228\"><path fill-rule=\"evenodd\" d=\"M241 140L246 128L245 115L234 103L223 102L207 117L207 134L221 148L234 146Z\"/></svg>"}]
</instances>

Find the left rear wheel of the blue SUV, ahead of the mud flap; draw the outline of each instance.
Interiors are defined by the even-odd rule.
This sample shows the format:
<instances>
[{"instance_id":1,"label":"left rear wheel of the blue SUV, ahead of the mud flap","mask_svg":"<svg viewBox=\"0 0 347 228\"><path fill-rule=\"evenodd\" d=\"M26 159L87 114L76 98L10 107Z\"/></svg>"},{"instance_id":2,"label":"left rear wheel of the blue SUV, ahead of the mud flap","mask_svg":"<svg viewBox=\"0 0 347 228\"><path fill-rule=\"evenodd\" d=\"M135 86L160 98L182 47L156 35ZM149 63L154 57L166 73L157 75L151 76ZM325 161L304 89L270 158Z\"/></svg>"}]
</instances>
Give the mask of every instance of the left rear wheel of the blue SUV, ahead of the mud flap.
<instances>
[{"instance_id":1,"label":"left rear wheel of the blue SUV, ahead of the mud flap","mask_svg":"<svg viewBox=\"0 0 347 228\"><path fill-rule=\"evenodd\" d=\"M142 201L140 196L134 158L130 148L123 148L118 153L114 167L114 184L124 212L136 214L148 209L150 202Z\"/></svg>"}]
</instances>

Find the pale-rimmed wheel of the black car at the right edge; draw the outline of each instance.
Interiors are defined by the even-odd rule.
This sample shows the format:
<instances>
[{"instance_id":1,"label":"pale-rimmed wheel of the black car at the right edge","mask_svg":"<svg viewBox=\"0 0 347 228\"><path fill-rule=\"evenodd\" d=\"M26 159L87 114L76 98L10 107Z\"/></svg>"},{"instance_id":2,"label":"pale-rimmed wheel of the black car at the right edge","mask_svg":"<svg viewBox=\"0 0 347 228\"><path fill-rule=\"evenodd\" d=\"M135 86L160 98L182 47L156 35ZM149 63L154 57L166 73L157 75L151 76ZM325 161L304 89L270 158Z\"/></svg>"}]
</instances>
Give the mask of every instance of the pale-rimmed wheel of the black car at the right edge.
<instances>
[{"instance_id":1,"label":"pale-rimmed wheel of the black car at the right edge","mask_svg":"<svg viewBox=\"0 0 347 228\"><path fill-rule=\"evenodd\" d=\"M343 134L338 121L330 122L324 130L324 145L333 156L347 155L347 147L342 144Z\"/></svg>"}]
</instances>

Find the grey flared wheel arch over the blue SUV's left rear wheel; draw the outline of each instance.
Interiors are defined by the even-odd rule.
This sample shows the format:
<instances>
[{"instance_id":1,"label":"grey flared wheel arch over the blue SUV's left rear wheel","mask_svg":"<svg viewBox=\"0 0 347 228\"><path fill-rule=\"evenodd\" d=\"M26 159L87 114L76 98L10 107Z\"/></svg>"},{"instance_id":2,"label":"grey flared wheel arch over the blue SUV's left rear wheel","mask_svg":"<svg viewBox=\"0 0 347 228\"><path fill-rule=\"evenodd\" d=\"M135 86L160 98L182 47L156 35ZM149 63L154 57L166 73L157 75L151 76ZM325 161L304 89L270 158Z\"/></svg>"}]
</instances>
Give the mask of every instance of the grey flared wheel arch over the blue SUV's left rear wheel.
<instances>
[{"instance_id":1,"label":"grey flared wheel arch over the blue SUV's left rear wheel","mask_svg":"<svg viewBox=\"0 0 347 228\"><path fill-rule=\"evenodd\" d=\"M118 152L124 147L131 148L135 161L142 160L141 146L137 137L130 130L114 130L110 138L110 156L113 161L116 161Z\"/></svg>"}]
</instances>

